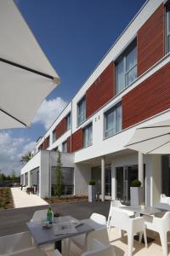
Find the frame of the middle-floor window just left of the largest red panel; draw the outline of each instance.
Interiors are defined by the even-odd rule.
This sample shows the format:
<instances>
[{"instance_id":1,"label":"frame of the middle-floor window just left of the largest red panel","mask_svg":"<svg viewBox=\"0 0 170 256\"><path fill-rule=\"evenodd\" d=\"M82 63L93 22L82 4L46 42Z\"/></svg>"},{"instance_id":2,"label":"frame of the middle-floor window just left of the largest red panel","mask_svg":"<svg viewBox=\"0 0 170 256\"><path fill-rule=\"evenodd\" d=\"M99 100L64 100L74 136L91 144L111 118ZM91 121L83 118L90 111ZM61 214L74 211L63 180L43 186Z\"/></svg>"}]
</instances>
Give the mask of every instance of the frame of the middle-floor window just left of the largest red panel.
<instances>
[{"instance_id":1,"label":"frame of the middle-floor window just left of the largest red panel","mask_svg":"<svg viewBox=\"0 0 170 256\"><path fill-rule=\"evenodd\" d=\"M112 136L116 135L117 133L119 133L120 131L122 131L122 128L119 131L117 131L117 128L116 128L116 109L119 108L119 107L122 107L122 102L118 102L116 105L114 105L111 108L107 109L105 111L105 113L104 113L104 138L105 139L108 138L108 137L112 137ZM113 128L111 128L110 130L106 130L107 116L108 116L109 113L112 113L112 112L114 113L114 124L115 124L114 131L115 132L113 131L113 133L111 133L111 135L106 136L106 133L108 131L113 130Z\"/></svg>"}]
</instances>

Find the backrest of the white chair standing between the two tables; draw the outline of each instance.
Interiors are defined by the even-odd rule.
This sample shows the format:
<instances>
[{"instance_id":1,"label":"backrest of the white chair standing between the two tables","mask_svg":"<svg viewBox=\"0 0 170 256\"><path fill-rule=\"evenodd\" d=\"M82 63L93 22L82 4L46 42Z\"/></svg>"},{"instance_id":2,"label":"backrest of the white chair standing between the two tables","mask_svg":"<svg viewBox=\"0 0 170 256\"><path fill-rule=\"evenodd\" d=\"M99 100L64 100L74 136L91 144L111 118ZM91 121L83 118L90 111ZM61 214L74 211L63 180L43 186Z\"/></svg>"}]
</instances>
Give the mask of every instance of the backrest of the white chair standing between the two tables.
<instances>
[{"instance_id":1,"label":"backrest of the white chair standing between the two tables","mask_svg":"<svg viewBox=\"0 0 170 256\"><path fill-rule=\"evenodd\" d=\"M120 208L112 207L111 212L111 226L120 228L122 230L127 230L129 227L130 218L127 212Z\"/></svg>"}]
</instances>

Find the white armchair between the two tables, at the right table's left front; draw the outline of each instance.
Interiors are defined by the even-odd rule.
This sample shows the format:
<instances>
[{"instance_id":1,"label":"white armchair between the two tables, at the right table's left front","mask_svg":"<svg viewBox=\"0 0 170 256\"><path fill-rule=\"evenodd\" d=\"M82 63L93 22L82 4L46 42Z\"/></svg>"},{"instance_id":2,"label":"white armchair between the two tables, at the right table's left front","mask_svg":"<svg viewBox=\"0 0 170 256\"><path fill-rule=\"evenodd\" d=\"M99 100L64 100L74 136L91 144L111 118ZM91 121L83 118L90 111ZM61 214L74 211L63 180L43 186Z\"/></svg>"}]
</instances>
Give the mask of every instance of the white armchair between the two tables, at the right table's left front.
<instances>
[{"instance_id":1,"label":"white armchair between the two tables, at the right table's left front","mask_svg":"<svg viewBox=\"0 0 170 256\"><path fill-rule=\"evenodd\" d=\"M143 217L130 218L127 212L122 212L121 209L115 207L111 215L111 227L116 227L127 232L128 256L133 255L133 235L136 233L140 233L140 242L142 234L144 234L144 243L145 247L147 247Z\"/></svg>"}]
</instances>

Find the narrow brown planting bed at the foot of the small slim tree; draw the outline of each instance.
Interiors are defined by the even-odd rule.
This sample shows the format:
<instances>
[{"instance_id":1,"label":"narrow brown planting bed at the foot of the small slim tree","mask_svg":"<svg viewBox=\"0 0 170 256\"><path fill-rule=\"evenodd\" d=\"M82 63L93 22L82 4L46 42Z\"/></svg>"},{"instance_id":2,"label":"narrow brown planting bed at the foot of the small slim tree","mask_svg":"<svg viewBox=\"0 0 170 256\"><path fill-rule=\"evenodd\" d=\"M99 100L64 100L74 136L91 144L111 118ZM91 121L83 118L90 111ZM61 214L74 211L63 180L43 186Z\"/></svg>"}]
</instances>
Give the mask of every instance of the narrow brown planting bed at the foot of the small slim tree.
<instances>
[{"instance_id":1,"label":"narrow brown planting bed at the foot of the small slim tree","mask_svg":"<svg viewBox=\"0 0 170 256\"><path fill-rule=\"evenodd\" d=\"M88 201L88 196L86 195L70 195L70 196L61 196L61 197L50 197L45 198L49 204L56 204L61 202L73 202L73 201Z\"/></svg>"}]
</instances>

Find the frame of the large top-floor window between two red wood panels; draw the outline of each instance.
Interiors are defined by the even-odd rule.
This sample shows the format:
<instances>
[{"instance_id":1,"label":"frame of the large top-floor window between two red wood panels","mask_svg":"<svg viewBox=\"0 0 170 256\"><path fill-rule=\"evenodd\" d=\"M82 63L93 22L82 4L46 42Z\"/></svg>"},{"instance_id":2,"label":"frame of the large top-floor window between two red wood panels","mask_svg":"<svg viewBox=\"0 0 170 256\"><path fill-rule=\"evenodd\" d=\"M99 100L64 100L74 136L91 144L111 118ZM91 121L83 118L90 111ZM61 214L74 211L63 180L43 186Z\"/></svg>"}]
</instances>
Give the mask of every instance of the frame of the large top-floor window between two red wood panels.
<instances>
[{"instance_id":1,"label":"frame of the large top-floor window between two red wood panels","mask_svg":"<svg viewBox=\"0 0 170 256\"><path fill-rule=\"evenodd\" d=\"M135 48L137 50L137 38L135 38L133 40L133 42L127 46L127 48L122 52L122 54L115 61L116 95L122 93L123 90L126 90L131 84L133 84L135 79L137 79L137 67L138 67L137 55L136 55L135 65L133 67L131 67L130 69L127 70L127 63L126 63L127 55L130 54L133 51L133 49L135 49ZM120 91L117 91L117 66L121 61L123 61L123 78L122 78L123 79L123 83L122 83L123 89ZM133 70L133 68L136 68L136 78L130 84L126 84L127 73L130 73Z\"/></svg>"}]
</instances>

